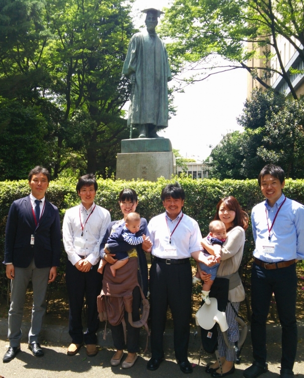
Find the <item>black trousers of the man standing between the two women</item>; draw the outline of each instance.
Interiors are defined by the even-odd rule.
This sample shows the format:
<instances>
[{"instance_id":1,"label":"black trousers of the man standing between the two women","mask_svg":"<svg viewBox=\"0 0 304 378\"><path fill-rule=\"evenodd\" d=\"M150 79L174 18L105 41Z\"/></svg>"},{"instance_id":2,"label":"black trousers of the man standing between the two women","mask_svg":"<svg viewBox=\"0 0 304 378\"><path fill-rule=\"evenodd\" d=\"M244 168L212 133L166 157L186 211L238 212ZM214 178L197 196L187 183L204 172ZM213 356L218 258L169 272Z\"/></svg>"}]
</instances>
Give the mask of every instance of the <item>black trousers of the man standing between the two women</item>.
<instances>
[{"instance_id":1,"label":"black trousers of the man standing between the two women","mask_svg":"<svg viewBox=\"0 0 304 378\"><path fill-rule=\"evenodd\" d=\"M186 361L190 335L192 271L190 262L170 264L153 261L150 268L152 358L163 357L163 333L170 306L174 325L174 352Z\"/></svg>"}]
</instances>

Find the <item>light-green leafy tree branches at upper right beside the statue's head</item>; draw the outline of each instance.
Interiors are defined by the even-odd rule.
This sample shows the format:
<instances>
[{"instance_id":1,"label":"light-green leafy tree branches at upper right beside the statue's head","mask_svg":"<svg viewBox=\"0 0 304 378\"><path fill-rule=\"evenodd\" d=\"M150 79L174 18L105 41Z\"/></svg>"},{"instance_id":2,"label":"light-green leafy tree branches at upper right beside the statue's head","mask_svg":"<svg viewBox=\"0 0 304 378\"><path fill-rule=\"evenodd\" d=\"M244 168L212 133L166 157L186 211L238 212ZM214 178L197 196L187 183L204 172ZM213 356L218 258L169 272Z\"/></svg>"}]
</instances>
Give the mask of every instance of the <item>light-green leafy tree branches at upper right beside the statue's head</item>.
<instances>
[{"instance_id":1,"label":"light-green leafy tree branches at upper right beside the statue's head","mask_svg":"<svg viewBox=\"0 0 304 378\"><path fill-rule=\"evenodd\" d=\"M218 54L227 60L218 71L244 68L265 88L269 88L269 78L278 73L297 99L278 38L286 38L304 62L303 13L301 0L174 0L165 11L161 30L172 40L167 50L175 72L197 70L202 65L214 68L211 59ZM269 64L270 46L278 58L278 69ZM254 57L261 58L263 65L252 67L249 61ZM205 73L191 81L206 77Z\"/></svg>"}]
</instances>

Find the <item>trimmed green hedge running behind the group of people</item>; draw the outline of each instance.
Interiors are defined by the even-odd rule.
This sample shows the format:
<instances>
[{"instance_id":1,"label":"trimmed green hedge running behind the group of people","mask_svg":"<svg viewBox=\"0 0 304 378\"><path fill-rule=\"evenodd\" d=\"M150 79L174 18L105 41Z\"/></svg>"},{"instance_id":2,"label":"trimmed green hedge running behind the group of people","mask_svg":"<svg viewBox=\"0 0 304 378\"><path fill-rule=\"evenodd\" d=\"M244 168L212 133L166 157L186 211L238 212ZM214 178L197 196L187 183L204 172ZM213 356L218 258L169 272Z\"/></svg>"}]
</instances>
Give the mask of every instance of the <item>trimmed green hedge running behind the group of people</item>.
<instances>
[{"instance_id":1,"label":"trimmed green hedge running behind the group of people","mask_svg":"<svg viewBox=\"0 0 304 378\"><path fill-rule=\"evenodd\" d=\"M121 181L98 179L98 191L96 203L107 208L111 213L112 220L120 219L122 214L118 206L118 194L124 188L135 189L139 196L137 211L148 221L152 216L163 211L160 200L161 189L169 182L175 180L159 179L156 183L147 181ZM190 178L178 178L179 183L185 189L186 200L184 212L196 219L202 235L208 233L208 225L214 216L215 207L220 198L226 195L234 195L240 202L242 208L250 215L252 207L263 200L257 180L192 180ZM50 183L47 190L47 198L58 206L61 220L65 210L79 203L79 198L75 190L76 181L69 179L56 180ZM4 256L4 231L6 217L13 200L29 194L29 186L25 180L18 182L0 182L0 261ZM284 189L285 194L301 203L304 203L304 180L287 180ZM241 273L250 262L253 251L253 238L251 225L246 232L247 241ZM66 254L62 254L61 274L64 271ZM4 273L4 265L0 269L0 290L6 293L7 281Z\"/></svg>"}]
</instances>

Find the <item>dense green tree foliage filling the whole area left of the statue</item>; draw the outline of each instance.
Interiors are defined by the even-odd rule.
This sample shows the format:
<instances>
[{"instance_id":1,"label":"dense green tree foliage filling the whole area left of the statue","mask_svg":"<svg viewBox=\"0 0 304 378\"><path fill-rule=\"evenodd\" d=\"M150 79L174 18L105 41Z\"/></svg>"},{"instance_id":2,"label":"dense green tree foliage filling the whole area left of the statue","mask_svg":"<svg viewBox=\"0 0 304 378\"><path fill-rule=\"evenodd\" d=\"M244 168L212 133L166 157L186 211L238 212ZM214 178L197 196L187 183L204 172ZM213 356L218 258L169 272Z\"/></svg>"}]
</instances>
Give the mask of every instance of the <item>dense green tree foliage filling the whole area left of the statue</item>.
<instances>
[{"instance_id":1,"label":"dense green tree foliage filling the whole area left of the statue","mask_svg":"<svg viewBox=\"0 0 304 378\"><path fill-rule=\"evenodd\" d=\"M128 137L123 106L131 88L121 72L135 32L130 3L1 0L0 14L0 109L7 113L7 101L23 112L34 109L32 136L45 144L24 171L48 161L53 177L68 167L113 172L120 141ZM14 140L10 119L0 125ZM26 133L25 121L19 127ZM36 134L39 129L44 132ZM22 158L28 146L15 139L11 153ZM21 171L8 176L3 167L4 177L24 177Z\"/></svg>"}]
</instances>

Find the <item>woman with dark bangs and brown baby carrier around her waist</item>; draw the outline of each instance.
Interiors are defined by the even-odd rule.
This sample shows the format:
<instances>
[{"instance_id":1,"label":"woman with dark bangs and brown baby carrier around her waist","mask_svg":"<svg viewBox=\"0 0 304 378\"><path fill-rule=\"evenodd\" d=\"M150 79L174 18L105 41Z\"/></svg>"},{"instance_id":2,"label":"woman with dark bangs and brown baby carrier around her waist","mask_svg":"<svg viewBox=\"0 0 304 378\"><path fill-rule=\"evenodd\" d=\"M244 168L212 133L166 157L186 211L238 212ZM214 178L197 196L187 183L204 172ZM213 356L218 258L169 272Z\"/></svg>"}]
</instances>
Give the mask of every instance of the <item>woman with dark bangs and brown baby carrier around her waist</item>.
<instances>
[{"instance_id":1,"label":"woman with dark bangs and brown baby carrier around her waist","mask_svg":"<svg viewBox=\"0 0 304 378\"><path fill-rule=\"evenodd\" d=\"M144 241L142 244L133 247L126 242L124 245L124 251L129 252L130 258L127 264L116 270L116 276L113 277L110 266L117 261L115 252L122 252L122 244L124 243L120 243L116 250L111 248L111 253L105 252L105 245L108 242L109 236L116 232L119 227L126 224L128 214L135 212L138 205L136 191L133 189L123 189L119 194L118 203L124 217L123 219L113 221L109 224L100 245L100 255L103 259L110 263L105 264L104 267L103 291L107 290L107 303L110 306L110 310L113 309L112 314L114 315L110 319L111 311L108 313L107 310L108 320L112 331L112 338L116 348L116 353L111 359L111 365L120 365L124 356L125 333L123 323L125 321L127 328L128 356L123 362L122 367L124 369L128 369L131 368L137 360L137 352L139 352L140 328L132 327L129 323L128 314L124 308L122 309L123 298L120 295L123 294L123 291L125 291L125 294L128 294L130 287L133 290L131 291L133 296L132 318L134 322L137 322L140 319L139 308L141 307L142 300L141 293L144 293L145 297L147 297L148 293L148 266L146 255L142 246L148 250L152 244L149 239ZM141 219L140 229L135 235L142 236L143 234L147 234L147 221L144 218ZM101 271L99 270L99 272ZM117 308L119 308L119 311L117 311Z\"/></svg>"}]
</instances>

